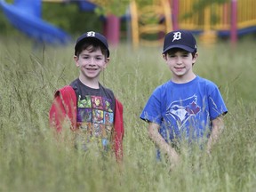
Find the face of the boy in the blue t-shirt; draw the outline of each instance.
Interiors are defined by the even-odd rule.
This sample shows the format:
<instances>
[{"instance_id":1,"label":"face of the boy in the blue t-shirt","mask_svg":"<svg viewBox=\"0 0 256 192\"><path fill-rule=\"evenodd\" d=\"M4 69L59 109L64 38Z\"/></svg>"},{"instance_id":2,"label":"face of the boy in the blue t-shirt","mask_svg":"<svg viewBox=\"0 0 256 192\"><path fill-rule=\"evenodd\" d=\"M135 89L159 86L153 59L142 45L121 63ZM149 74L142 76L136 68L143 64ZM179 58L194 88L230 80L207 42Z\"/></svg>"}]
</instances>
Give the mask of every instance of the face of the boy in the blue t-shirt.
<instances>
[{"instance_id":1,"label":"face of the boy in the blue t-shirt","mask_svg":"<svg viewBox=\"0 0 256 192\"><path fill-rule=\"evenodd\" d=\"M171 49L163 55L167 66L172 71L172 78L190 79L194 76L193 64L197 59L197 52L192 56L191 52L182 49Z\"/></svg>"}]
</instances>

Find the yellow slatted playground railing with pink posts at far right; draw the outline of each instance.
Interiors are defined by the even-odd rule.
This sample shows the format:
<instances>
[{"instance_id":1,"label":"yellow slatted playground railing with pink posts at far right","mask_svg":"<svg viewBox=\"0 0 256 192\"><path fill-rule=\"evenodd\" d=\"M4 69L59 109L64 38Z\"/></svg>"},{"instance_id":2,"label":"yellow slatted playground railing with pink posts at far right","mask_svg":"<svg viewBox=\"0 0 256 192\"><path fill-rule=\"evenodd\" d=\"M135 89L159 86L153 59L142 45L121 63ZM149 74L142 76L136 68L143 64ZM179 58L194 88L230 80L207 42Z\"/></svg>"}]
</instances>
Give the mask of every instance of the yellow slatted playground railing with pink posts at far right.
<instances>
[{"instance_id":1,"label":"yellow slatted playground railing with pink posts at far right","mask_svg":"<svg viewBox=\"0 0 256 192\"><path fill-rule=\"evenodd\" d=\"M231 42L236 43L237 36L256 32L255 0L229 0L225 4L212 3L201 11L195 11L194 8L198 0L172 0L171 2L172 12L176 12L173 20L175 28L198 33L202 35L203 41L214 42L220 36L230 37ZM184 18L188 12L193 12L191 17Z\"/></svg>"}]
</instances>

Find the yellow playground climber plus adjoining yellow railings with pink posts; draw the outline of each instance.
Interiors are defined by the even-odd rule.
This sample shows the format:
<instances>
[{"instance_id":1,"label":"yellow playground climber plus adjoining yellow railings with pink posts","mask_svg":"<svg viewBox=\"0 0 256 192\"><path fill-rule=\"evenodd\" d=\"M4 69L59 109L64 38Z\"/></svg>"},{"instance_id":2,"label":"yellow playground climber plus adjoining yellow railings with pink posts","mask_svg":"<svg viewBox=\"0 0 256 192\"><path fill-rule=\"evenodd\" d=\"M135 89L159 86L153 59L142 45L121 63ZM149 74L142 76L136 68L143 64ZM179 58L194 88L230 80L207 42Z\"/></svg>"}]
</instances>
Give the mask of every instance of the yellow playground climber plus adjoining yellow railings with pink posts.
<instances>
[{"instance_id":1,"label":"yellow playground climber plus adjoining yellow railings with pink posts","mask_svg":"<svg viewBox=\"0 0 256 192\"><path fill-rule=\"evenodd\" d=\"M201 1L202 2L202 1ZM199 0L155 0L150 7L138 7L136 1L132 1L132 43L138 44L159 44L158 41L145 42L141 34L151 31L170 31L173 29L187 29L200 35L200 40L205 44L214 43L218 37L230 37L232 43L236 43L237 36L256 32L256 7L255 0L229 0L225 4L211 3L204 6L202 10L195 10ZM159 6L156 6L158 4ZM168 9L168 7L170 9ZM145 11L146 10L146 11ZM159 10L162 10L159 12ZM156 18L163 17L171 25L158 20L156 26L152 27L143 21L143 17L154 14ZM161 14L162 12L162 14ZM185 17L186 15L189 17ZM158 16L157 16L158 15ZM142 20L142 21L141 21ZM163 26L164 24L164 26ZM152 27L152 28L151 28ZM150 28L152 30L150 30Z\"/></svg>"}]
</instances>

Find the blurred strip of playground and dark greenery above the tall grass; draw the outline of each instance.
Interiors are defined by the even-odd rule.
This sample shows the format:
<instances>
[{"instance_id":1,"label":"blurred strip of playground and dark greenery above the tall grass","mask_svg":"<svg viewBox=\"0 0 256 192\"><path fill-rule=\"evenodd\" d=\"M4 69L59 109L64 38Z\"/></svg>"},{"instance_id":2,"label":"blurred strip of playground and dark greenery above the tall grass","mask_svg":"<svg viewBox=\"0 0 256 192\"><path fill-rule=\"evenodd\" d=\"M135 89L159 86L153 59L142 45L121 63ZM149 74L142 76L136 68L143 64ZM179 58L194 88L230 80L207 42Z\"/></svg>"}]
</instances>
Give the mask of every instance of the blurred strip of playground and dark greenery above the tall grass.
<instances>
[{"instance_id":1,"label":"blurred strip of playground and dark greenery above the tall grass","mask_svg":"<svg viewBox=\"0 0 256 192\"><path fill-rule=\"evenodd\" d=\"M162 44L172 29L187 29L205 44L233 45L255 37L254 0L0 0L0 38L26 36L36 44L65 45L85 31L112 45Z\"/></svg>"}]
</instances>

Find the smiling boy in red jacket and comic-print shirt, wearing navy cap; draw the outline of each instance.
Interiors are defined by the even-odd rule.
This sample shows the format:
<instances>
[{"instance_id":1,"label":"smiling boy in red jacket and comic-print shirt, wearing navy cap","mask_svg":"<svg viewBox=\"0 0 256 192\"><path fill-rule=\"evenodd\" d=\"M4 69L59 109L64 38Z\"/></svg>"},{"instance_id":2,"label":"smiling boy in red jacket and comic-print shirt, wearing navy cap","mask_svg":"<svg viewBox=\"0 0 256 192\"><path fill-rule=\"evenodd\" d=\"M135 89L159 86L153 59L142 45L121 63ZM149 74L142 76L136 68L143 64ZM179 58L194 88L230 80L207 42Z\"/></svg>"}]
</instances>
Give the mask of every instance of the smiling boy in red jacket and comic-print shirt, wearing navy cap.
<instances>
[{"instance_id":1,"label":"smiling boy in red jacket and comic-print shirt, wearing navy cap","mask_svg":"<svg viewBox=\"0 0 256 192\"><path fill-rule=\"evenodd\" d=\"M123 106L114 93L99 82L108 66L108 42L105 36L90 31L78 37L74 60L80 75L71 84L55 92L50 109L50 124L61 132L69 121L76 132L76 148L87 150L96 143L99 150L114 150L116 159L123 157Z\"/></svg>"}]
</instances>

